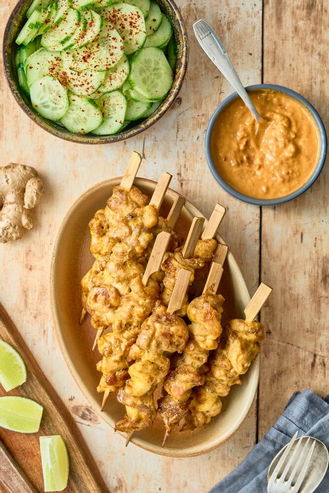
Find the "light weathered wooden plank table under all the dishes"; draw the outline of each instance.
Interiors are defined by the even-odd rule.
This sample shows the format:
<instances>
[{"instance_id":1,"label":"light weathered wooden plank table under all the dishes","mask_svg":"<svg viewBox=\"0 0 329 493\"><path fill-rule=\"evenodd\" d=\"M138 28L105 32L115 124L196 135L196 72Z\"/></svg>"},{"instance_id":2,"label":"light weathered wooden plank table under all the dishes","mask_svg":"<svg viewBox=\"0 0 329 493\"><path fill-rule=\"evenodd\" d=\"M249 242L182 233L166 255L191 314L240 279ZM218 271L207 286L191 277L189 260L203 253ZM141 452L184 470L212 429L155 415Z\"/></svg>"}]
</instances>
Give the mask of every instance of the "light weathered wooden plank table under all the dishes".
<instances>
[{"instance_id":1,"label":"light weathered wooden plank table under all the dishes","mask_svg":"<svg viewBox=\"0 0 329 493\"><path fill-rule=\"evenodd\" d=\"M328 166L303 196L279 207L248 206L226 195L208 171L203 146L211 114L232 90L192 32L197 19L210 22L245 85L288 86L305 96L328 124L326 2L178 0L178 4L190 37L182 91L153 128L128 141L97 146L61 141L30 121L14 102L3 73L0 78L0 164L35 166L45 187L35 230L20 241L0 245L0 300L79 423L113 493L207 492L252 450L293 391L310 387L321 396L329 392ZM15 0L1 2L1 32L14 5ZM165 458L134 445L126 449L73 382L50 316L49 268L59 224L84 190L121 176L133 150L145 158L141 176L157 179L168 171L174 176L171 186L205 215L216 202L223 204L228 213L221 234L250 293L260 280L273 287L261 311L266 340L257 398L239 430L201 457Z\"/></svg>"}]
</instances>

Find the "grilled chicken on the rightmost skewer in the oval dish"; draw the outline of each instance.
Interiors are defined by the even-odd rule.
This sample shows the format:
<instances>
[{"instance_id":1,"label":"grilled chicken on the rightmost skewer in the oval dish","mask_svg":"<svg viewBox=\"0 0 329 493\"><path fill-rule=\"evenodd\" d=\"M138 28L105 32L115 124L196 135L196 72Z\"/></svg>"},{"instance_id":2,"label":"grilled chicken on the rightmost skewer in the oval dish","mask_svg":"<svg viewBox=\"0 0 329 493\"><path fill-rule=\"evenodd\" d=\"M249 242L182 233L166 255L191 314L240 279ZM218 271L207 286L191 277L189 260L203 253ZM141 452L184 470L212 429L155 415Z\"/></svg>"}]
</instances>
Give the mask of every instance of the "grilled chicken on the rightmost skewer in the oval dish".
<instances>
[{"instance_id":1,"label":"grilled chicken on the rightmost skewer in the oval dish","mask_svg":"<svg viewBox=\"0 0 329 493\"><path fill-rule=\"evenodd\" d=\"M239 376L247 372L260 352L263 340L260 322L239 318L230 321L218 349L209 358L210 368L205 374L204 385L192 393L186 427L200 427L220 413L220 397L227 395L232 385L242 384Z\"/></svg>"}]
</instances>

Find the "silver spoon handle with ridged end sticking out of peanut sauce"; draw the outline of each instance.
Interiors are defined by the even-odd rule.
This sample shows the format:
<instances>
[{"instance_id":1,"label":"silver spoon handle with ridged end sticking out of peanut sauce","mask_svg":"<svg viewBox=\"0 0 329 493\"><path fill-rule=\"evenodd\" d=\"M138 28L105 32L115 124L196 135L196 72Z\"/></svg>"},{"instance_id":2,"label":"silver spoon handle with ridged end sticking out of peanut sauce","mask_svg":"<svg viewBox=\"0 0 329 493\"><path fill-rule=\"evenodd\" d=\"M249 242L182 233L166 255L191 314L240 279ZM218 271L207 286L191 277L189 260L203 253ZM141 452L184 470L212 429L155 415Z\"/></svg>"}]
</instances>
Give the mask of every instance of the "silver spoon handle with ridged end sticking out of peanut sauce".
<instances>
[{"instance_id":1,"label":"silver spoon handle with ridged end sticking out of peanut sauce","mask_svg":"<svg viewBox=\"0 0 329 493\"><path fill-rule=\"evenodd\" d=\"M216 67L221 71L223 76L228 80L228 82L234 87L238 95L242 98L245 105L252 112L257 123L262 123L264 119L260 116L256 110L252 100L248 96L246 89L243 87L238 74L234 70L232 62L228 58L226 50L220 41L218 35L215 31L207 24L204 20L193 24L193 30L196 39L198 40L203 51L208 55L210 60L216 65Z\"/></svg>"}]
</instances>

